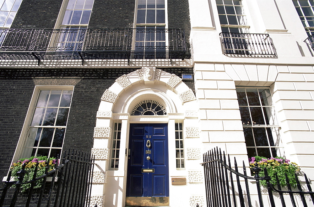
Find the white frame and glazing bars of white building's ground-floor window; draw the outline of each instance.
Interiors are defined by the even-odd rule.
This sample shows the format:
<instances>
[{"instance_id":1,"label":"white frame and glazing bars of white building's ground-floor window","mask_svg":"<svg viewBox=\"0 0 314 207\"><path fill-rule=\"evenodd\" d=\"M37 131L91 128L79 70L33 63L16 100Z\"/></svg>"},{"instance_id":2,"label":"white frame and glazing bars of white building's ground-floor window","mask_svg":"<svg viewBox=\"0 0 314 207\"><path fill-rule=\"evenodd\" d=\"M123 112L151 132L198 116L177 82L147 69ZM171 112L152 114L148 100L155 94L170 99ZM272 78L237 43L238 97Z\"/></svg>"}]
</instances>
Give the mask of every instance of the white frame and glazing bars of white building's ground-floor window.
<instances>
[{"instance_id":1,"label":"white frame and glazing bars of white building's ground-floor window","mask_svg":"<svg viewBox=\"0 0 314 207\"><path fill-rule=\"evenodd\" d=\"M265 131L266 131L266 139L267 139L267 143L268 143L268 146L257 146L257 144L256 144L256 140L255 140L255 138L254 138L254 133L252 132L252 136L253 136L253 142L254 142L254 146L246 146L246 148L252 148L252 149L255 149L255 153L256 153L256 155L257 156L260 156L260 155L258 155L258 152L257 152L257 148L268 148L269 149L269 152L270 152L270 155L271 155L271 157L275 157L275 156L273 156L273 154L272 154L272 148L275 148L276 149L276 153L277 153L277 155L276 156L282 156L282 155L284 155L284 149L283 149L283 146L282 146L282 140L281 140L281 132L280 132L280 126L278 125L278 121L277 121L277 118L276 118L276 111L274 110L274 106L273 106L273 99L272 99L272 93L271 93L271 90L270 90L270 88L269 87L250 87L250 86L236 86L236 89L245 89L245 94L246 94L246 101L248 102L248 96L247 96L247 91L246 91L246 89L268 89L269 90L269 93L270 93L270 100L271 100L271 106L262 106L262 104L261 104L261 106L250 106L249 104L248 104L248 106L240 106L239 105L239 108L241 108L241 107L248 107L249 108L249 115L250 115L250 119L251 119L251 124L250 123L242 123L242 127L243 127L243 131L245 130L245 129L247 129L247 128L251 128L252 130L254 130L254 128L264 128L265 129ZM259 102L261 103L261 97L260 96L258 96L259 97ZM274 123L273 124L271 124L271 123L269 123L268 125L267 125L267 122L266 122L266 118L265 118L265 114L264 114L264 111L263 111L263 120L264 120L264 122L265 122L265 124L264 125L259 125L259 124L252 124L252 122L253 122L253 120L252 120L252 115L251 115L251 110L250 110L250 107L262 107L262 108L264 108L264 107L271 107L272 108L272 116L273 116L273 121L274 121ZM242 118L242 117L241 117ZM269 117L268 117L269 118ZM270 128L271 129L271 132L272 132L272 136L273 136L273 142L274 142L274 146L271 146L271 144L270 144L270 141L269 141L269 137L268 137L268 133L267 133L267 128ZM277 140L277 142L276 142L276 140Z\"/></svg>"}]
</instances>

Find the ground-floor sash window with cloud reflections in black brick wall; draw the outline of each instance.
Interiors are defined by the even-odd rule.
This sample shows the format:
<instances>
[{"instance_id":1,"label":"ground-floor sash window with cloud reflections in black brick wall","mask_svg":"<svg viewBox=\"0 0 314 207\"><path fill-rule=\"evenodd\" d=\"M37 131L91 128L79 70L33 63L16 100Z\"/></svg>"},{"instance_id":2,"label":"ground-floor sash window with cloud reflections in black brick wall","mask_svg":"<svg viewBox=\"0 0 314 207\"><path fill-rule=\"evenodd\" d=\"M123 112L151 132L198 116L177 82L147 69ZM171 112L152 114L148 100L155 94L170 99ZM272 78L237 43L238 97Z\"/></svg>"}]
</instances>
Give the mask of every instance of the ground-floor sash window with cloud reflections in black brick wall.
<instances>
[{"instance_id":1,"label":"ground-floor sash window with cloud reflections in black brick wall","mask_svg":"<svg viewBox=\"0 0 314 207\"><path fill-rule=\"evenodd\" d=\"M23 158L61 155L73 90L40 90L33 108Z\"/></svg>"}]
</instances>

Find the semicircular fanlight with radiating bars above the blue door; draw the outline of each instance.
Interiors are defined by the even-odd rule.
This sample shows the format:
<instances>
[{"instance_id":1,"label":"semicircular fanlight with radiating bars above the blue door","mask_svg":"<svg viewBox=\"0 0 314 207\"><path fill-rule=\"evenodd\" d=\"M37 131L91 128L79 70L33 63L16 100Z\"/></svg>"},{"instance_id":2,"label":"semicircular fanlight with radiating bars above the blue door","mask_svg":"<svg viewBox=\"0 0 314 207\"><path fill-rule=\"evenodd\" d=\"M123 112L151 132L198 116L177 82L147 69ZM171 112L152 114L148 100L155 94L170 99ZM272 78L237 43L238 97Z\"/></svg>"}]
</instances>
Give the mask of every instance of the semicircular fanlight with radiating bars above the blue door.
<instances>
[{"instance_id":1,"label":"semicircular fanlight with radiating bars above the blue door","mask_svg":"<svg viewBox=\"0 0 314 207\"><path fill-rule=\"evenodd\" d=\"M140 101L131 111L131 116L154 116L166 114L165 106L158 101L153 100Z\"/></svg>"}]
</instances>

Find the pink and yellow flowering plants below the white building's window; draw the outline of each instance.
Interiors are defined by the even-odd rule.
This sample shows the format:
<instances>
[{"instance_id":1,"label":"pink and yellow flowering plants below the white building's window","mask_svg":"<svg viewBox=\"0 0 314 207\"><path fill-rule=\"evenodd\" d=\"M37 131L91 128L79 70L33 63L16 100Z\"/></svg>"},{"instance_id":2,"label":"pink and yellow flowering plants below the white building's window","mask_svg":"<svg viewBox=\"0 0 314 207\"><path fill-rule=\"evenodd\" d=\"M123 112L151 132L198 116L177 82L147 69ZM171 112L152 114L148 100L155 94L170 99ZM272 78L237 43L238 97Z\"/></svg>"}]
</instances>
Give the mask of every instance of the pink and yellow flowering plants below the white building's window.
<instances>
[{"instance_id":1,"label":"pink and yellow flowering plants below the white building's window","mask_svg":"<svg viewBox=\"0 0 314 207\"><path fill-rule=\"evenodd\" d=\"M259 168L262 168L262 171L259 172L260 177L264 177L264 168L267 169L268 176L271 178L270 183L273 185L277 185L276 181L276 173L278 175L279 184L281 186L287 186L285 174L289 179L290 185L296 187L295 181L295 173L300 170L299 166L296 163L290 162L290 160L285 159L283 157L275 157L275 158L265 158L260 156L255 156L249 159L250 161L250 168L255 167L255 163L258 164ZM254 173L252 171L252 173ZM261 180L262 185L266 185L265 180Z\"/></svg>"}]
</instances>

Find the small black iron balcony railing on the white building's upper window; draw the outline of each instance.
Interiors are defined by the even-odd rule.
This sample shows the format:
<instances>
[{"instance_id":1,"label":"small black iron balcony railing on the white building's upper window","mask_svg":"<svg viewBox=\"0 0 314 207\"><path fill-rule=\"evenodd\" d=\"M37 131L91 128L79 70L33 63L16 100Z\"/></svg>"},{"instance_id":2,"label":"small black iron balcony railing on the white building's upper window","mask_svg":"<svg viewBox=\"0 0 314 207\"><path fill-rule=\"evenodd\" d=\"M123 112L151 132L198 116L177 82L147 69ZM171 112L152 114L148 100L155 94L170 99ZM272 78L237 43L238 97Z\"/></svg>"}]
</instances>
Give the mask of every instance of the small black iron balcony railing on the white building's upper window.
<instances>
[{"instance_id":1,"label":"small black iron balcony railing on the white building's upper window","mask_svg":"<svg viewBox=\"0 0 314 207\"><path fill-rule=\"evenodd\" d=\"M276 55L268 34L222 32L219 35L225 54Z\"/></svg>"}]
</instances>

